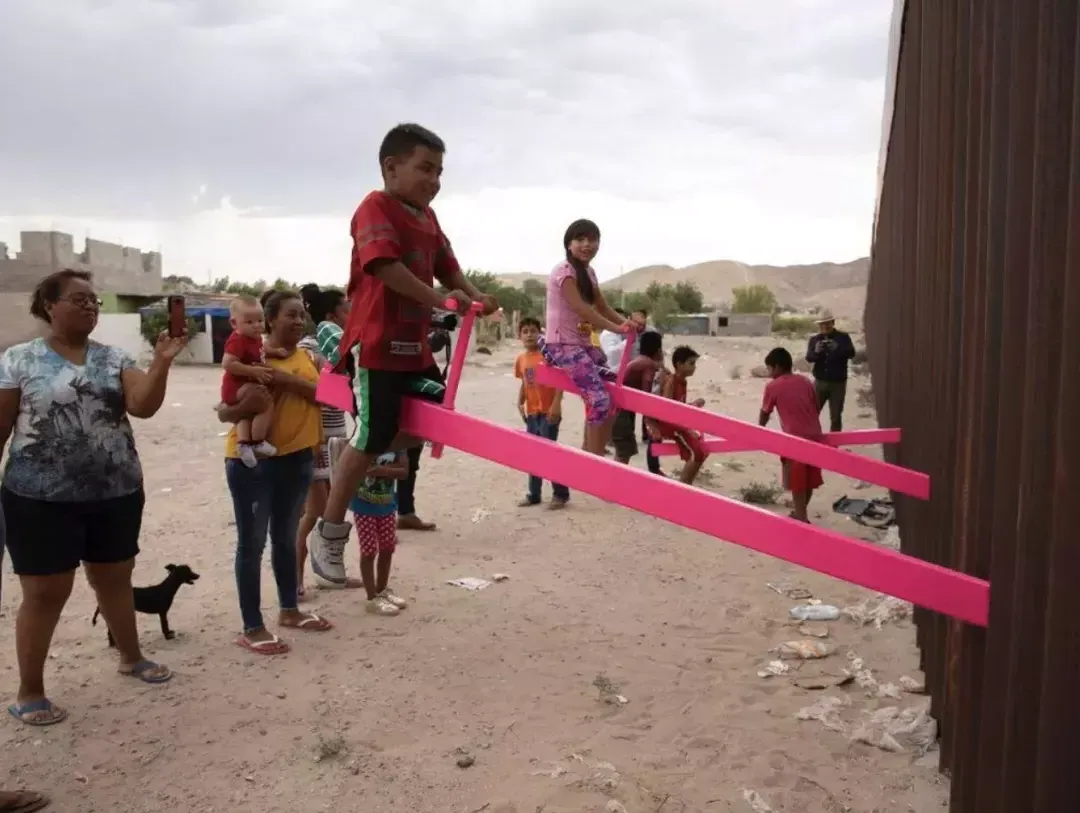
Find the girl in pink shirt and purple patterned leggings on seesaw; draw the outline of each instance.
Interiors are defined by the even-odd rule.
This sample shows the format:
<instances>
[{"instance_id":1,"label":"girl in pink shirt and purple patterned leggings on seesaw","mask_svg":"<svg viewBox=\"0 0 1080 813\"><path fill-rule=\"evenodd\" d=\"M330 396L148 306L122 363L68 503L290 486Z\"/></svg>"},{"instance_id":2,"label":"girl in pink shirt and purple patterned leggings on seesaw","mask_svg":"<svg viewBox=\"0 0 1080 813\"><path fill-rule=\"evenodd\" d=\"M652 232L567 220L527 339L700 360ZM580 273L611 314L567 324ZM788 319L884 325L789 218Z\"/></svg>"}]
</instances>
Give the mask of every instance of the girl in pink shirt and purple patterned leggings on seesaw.
<instances>
[{"instance_id":1,"label":"girl in pink shirt and purple patterned leggings on seesaw","mask_svg":"<svg viewBox=\"0 0 1080 813\"><path fill-rule=\"evenodd\" d=\"M603 351L592 343L593 328L626 334L634 323L608 306L596 273L589 265L600 246L600 230L592 220L575 220L563 236L566 260L548 277L548 326L544 357L581 390L585 402L585 451L604 455L615 409L605 381L613 381Z\"/></svg>"}]
</instances>

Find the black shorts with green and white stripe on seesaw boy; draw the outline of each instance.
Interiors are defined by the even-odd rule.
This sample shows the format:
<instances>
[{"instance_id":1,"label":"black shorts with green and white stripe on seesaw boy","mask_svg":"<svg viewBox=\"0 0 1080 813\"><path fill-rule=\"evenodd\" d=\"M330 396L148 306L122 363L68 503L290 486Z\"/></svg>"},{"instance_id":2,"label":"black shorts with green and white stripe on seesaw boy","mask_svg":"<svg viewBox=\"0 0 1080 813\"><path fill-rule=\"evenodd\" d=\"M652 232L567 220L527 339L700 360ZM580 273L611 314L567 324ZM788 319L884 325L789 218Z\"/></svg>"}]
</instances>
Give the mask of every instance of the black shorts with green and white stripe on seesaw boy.
<instances>
[{"instance_id":1,"label":"black shorts with green and white stripe on seesaw boy","mask_svg":"<svg viewBox=\"0 0 1080 813\"><path fill-rule=\"evenodd\" d=\"M356 430L349 445L367 455L381 455L397 436L402 398L443 403L443 376L438 367L420 372L373 370L353 364L352 395L356 402Z\"/></svg>"}]
</instances>

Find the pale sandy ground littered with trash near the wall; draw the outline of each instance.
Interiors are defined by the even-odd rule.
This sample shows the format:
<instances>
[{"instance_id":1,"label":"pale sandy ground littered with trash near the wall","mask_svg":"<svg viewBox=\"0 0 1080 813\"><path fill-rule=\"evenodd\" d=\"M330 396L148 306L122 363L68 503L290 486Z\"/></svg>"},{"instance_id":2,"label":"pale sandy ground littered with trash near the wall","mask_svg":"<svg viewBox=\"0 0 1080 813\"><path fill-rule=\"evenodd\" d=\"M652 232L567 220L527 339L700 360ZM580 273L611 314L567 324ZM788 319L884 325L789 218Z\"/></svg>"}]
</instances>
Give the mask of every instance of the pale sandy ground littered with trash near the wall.
<instances>
[{"instance_id":1,"label":"pale sandy ground littered with trash near the wall","mask_svg":"<svg viewBox=\"0 0 1080 813\"><path fill-rule=\"evenodd\" d=\"M764 382L748 370L772 342L696 343L705 357L691 397L753 420ZM515 423L515 352L507 345L470 364L461 409ZM742 377L733 380L735 367ZM945 805L933 753L887 753L846 733L868 712L924 697L796 686L841 675L849 651L882 682L919 678L909 622L832 622L825 640L836 654L759 677L770 649L806 638L787 619L796 601L767 583L799 585L840 607L866 594L582 494L562 513L517 509L525 475L453 451L438 462L424 458L417 489L420 513L438 530L405 534L395 561L397 590L414 599L409 610L376 619L352 593L321 593L314 604L337 623L334 632L291 636L285 658L241 650L233 643L232 506L221 428L211 412L217 382L213 369L176 369L162 412L137 424L148 500L136 582L157 582L167 563L203 577L177 598L175 640L140 618L148 654L168 663L175 679L156 688L117 675L80 583L49 670L51 693L71 717L52 729L0 726L3 786L45 789L55 810L83 813L273 813L342 803L373 813L927 813ZM849 428L873 425L854 402L852 392ZM581 415L571 398L564 443L580 443ZM708 487L737 496L753 480L775 482L778 469L764 455L716 457ZM879 490L855 491L838 475L826 480L811 506L814 521L874 539L829 505ZM481 592L446 583L495 573L509 580ZM17 600L5 573L0 677L8 692L16 686ZM264 606L272 601L267 565ZM843 731L796 719L825 695L842 701ZM746 789L769 807L755 808Z\"/></svg>"}]
</instances>

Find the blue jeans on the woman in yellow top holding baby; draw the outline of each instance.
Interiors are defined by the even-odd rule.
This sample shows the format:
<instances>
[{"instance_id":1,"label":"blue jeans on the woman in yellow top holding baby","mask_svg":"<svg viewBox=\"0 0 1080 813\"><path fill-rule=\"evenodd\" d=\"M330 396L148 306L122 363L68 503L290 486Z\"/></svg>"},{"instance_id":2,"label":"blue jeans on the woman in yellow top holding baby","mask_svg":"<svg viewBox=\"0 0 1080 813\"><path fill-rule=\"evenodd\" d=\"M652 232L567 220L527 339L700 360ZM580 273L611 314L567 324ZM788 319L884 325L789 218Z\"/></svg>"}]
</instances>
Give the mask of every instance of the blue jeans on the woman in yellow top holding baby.
<instances>
[{"instance_id":1,"label":"blue jeans on the woman in yellow top holding baby","mask_svg":"<svg viewBox=\"0 0 1080 813\"><path fill-rule=\"evenodd\" d=\"M225 461L225 478L237 516L237 593L245 633L266 626L260 604L262 551L268 530L278 605L282 610L297 609L296 530L314 473L311 449L265 458L254 469L237 458Z\"/></svg>"}]
</instances>

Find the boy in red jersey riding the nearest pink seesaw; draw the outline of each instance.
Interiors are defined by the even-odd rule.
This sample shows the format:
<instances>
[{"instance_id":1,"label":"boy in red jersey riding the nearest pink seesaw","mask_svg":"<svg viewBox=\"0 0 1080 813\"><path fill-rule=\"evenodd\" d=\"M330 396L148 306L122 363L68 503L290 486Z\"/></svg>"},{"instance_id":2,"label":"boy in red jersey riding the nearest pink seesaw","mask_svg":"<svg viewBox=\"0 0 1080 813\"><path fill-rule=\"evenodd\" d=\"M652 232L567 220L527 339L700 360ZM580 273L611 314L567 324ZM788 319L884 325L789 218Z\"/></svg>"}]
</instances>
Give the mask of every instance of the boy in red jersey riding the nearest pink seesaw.
<instances>
[{"instance_id":1,"label":"boy in red jersey riding the nearest pink seesaw","mask_svg":"<svg viewBox=\"0 0 1080 813\"><path fill-rule=\"evenodd\" d=\"M346 586L345 546L349 502L374 460L421 443L399 433L402 398L443 399L442 377L428 344L431 311L446 299L437 279L462 311L494 297L473 287L458 266L431 202L438 194L446 145L419 124L399 124L382 139L383 188L368 194L352 216L352 262L346 294L349 321L342 363L351 368L356 430L335 465L322 518L308 539L311 566L325 587Z\"/></svg>"}]
</instances>

